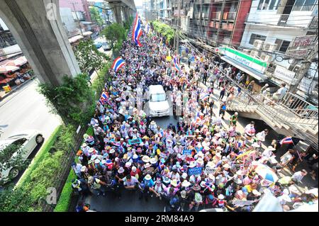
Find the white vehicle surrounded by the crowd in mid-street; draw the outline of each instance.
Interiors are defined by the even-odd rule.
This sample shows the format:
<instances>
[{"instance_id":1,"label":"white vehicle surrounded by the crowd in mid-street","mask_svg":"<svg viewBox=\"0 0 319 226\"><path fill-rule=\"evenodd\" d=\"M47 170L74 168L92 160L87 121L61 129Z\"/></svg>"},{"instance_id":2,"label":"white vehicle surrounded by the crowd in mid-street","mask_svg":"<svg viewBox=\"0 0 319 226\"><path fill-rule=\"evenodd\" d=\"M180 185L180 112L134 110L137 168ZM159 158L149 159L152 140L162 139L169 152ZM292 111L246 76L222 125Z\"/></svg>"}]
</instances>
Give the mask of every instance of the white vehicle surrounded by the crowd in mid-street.
<instances>
[{"instance_id":1,"label":"white vehicle surrounded by the crowd in mid-street","mask_svg":"<svg viewBox=\"0 0 319 226\"><path fill-rule=\"evenodd\" d=\"M167 96L161 85L149 86L148 103L150 115L152 117L161 117L169 115L169 103Z\"/></svg>"}]
</instances>

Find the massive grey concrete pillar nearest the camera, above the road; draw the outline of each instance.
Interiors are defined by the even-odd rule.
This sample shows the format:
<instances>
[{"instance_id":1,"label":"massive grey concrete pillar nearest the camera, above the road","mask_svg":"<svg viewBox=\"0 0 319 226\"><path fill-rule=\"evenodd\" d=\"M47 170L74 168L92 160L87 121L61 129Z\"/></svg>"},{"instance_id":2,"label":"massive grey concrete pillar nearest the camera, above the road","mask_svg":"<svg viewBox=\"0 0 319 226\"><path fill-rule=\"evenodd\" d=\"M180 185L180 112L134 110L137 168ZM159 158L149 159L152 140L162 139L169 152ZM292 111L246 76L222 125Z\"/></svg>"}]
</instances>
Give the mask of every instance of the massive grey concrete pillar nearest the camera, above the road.
<instances>
[{"instance_id":1,"label":"massive grey concrete pillar nearest the camera, above the road","mask_svg":"<svg viewBox=\"0 0 319 226\"><path fill-rule=\"evenodd\" d=\"M58 0L0 0L0 5L0 17L41 82L57 86L63 76L81 73L62 26Z\"/></svg>"}]
</instances>

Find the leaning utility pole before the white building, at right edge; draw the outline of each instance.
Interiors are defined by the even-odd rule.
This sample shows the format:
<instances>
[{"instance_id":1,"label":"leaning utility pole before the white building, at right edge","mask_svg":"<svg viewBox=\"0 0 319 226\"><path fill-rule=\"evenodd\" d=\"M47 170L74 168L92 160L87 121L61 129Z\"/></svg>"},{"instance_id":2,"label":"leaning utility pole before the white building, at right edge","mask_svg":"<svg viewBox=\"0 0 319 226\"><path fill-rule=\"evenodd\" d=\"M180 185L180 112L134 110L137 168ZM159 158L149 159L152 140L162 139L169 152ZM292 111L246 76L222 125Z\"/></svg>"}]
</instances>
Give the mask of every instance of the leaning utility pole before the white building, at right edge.
<instances>
[{"instance_id":1,"label":"leaning utility pole before the white building, at right edge","mask_svg":"<svg viewBox=\"0 0 319 226\"><path fill-rule=\"evenodd\" d=\"M318 55L318 36L315 39L315 46L310 49L308 57L306 60L301 62L301 67L298 69L298 72L295 75L295 79L293 79L293 84L289 87L289 92L292 94L296 94L298 91L298 85L300 84L301 80L308 73L311 63L315 60L315 57Z\"/></svg>"}]
</instances>

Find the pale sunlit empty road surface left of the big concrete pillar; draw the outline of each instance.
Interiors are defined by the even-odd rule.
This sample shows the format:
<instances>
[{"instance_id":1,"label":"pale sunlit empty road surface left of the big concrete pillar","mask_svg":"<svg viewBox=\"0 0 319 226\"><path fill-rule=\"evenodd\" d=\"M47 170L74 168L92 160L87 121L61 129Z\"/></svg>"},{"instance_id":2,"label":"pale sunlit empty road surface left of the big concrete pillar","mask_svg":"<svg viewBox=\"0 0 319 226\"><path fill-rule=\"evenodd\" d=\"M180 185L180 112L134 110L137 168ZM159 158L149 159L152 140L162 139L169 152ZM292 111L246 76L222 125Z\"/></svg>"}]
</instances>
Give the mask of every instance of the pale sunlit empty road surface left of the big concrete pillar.
<instances>
[{"instance_id":1,"label":"pale sunlit empty road surface left of the big concrete pillar","mask_svg":"<svg viewBox=\"0 0 319 226\"><path fill-rule=\"evenodd\" d=\"M38 93L38 79L29 81L0 102L0 139L24 130L39 130L47 139L61 124L60 116L50 113L45 97Z\"/></svg>"}]
</instances>

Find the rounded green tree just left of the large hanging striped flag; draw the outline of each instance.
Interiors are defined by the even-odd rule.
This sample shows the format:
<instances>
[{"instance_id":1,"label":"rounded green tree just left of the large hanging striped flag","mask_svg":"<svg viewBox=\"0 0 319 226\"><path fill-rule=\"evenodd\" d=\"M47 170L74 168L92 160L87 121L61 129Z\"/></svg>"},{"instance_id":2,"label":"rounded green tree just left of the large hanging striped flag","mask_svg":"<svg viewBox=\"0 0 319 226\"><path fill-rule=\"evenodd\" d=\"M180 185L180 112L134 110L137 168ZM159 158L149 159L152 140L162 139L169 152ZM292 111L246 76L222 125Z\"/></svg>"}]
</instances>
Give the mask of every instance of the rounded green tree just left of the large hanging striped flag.
<instances>
[{"instance_id":1,"label":"rounded green tree just left of the large hanging striped flag","mask_svg":"<svg viewBox=\"0 0 319 226\"><path fill-rule=\"evenodd\" d=\"M104 28L101 34L105 36L106 40L111 42L113 56L117 56L121 50L123 40L125 40L125 28L118 23L112 23L110 26Z\"/></svg>"}]
</instances>

